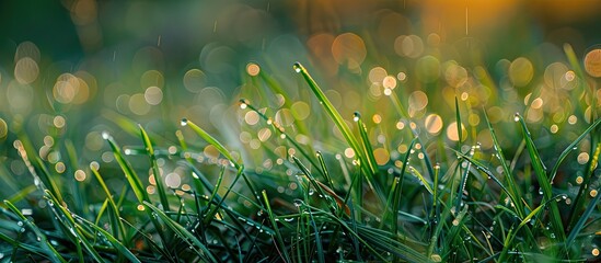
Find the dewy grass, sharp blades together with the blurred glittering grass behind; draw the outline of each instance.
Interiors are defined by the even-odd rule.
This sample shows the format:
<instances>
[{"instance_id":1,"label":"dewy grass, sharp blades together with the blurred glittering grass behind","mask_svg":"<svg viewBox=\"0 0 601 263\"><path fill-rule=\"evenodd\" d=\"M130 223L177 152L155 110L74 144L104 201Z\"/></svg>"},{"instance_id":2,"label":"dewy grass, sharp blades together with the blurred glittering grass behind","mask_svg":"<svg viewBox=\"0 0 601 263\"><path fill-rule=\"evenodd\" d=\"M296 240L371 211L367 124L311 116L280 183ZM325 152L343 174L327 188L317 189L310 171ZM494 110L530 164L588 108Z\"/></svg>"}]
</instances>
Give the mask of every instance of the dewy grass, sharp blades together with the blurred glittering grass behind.
<instances>
[{"instance_id":1,"label":"dewy grass, sharp blades together with the blurred glittering grass behind","mask_svg":"<svg viewBox=\"0 0 601 263\"><path fill-rule=\"evenodd\" d=\"M484 62L432 34L396 59L332 36L336 70L244 61L228 95L186 68L180 93L79 70L38 98L39 58L15 58L0 261L599 260L601 49Z\"/></svg>"}]
</instances>

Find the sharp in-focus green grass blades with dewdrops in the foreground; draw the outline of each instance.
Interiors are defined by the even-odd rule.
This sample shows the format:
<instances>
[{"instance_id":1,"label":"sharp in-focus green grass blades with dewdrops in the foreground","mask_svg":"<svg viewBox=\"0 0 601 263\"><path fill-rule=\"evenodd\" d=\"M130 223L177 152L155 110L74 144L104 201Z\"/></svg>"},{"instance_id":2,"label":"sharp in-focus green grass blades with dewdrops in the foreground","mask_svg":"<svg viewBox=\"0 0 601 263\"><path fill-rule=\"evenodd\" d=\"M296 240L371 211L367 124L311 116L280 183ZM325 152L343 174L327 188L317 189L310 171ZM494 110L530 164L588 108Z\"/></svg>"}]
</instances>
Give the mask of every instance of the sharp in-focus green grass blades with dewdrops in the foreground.
<instances>
[{"instance_id":1,"label":"sharp in-focus green grass blades with dewdrops in the foreground","mask_svg":"<svg viewBox=\"0 0 601 263\"><path fill-rule=\"evenodd\" d=\"M109 134L103 134L118 169L91 163L85 170L94 176L88 183L102 188L103 196L91 198L78 192L82 195L78 203L66 198L76 194L70 192L73 182L48 169L23 135L14 147L35 186L5 199L0 207L0 260L508 262L582 261L596 256L591 240L599 226L596 210L601 195L592 187L599 185L594 183L594 171L601 152L600 119L592 119L580 136L569 141L553 160L551 170L520 114L515 121L522 150L516 156L504 153L484 112L494 145L489 152L477 144L462 147L459 142L456 148L442 147L444 152L431 159L432 152L426 149L401 100L391 95L397 117L412 127L403 135L411 138L411 144L397 157L400 165L381 164L361 115L356 113L349 116L355 122L346 122L302 65L294 64L293 70L354 152L350 162L336 151L316 151L311 144L300 142L268 112L242 99L242 111L256 113L280 135L278 144L293 149L285 151L281 160L289 174L246 169L239 155L184 118L182 128L200 140L195 138L189 144L190 138L178 130L180 146L161 148L154 144L158 135L139 126L143 147L124 151ZM290 101L280 84L264 73L253 81L263 81ZM465 105L455 100L458 124L463 122L462 107ZM296 121L296 125L301 132L310 130L308 124ZM458 125L459 138L462 133ZM590 158L578 191L554 187L564 160L585 139L591 145ZM198 161L200 150L193 145L211 146L220 157L203 164ZM72 145L66 149L76 170L76 149ZM282 156L270 147L265 151ZM147 159L148 167L135 168L131 158ZM159 160L184 167L192 187L172 188L165 184ZM521 165L516 164L518 160ZM217 169L205 170L203 165ZM149 176L140 175L145 170L154 178L153 194L145 183ZM107 173L125 176L127 184L120 190L109 188ZM282 194L285 184L294 185L290 194ZM540 191L530 193L531 188ZM35 217L24 215L25 208L14 205L25 204L32 195L44 199Z\"/></svg>"}]
</instances>

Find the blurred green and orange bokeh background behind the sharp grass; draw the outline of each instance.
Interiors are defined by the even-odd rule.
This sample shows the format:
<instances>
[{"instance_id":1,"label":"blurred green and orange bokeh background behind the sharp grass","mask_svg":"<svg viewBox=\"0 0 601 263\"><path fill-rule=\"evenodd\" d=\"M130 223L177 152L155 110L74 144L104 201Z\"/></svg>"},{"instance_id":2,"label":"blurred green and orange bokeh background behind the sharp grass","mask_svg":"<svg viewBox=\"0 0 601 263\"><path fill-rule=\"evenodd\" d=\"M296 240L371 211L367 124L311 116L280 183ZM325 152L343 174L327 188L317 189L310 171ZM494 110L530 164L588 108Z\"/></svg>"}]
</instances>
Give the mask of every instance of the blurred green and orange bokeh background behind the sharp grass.
<instances>
[{"instance_id":1,"label":"blurred green and orange bokeh background behind the sharp grass","mask_svg":"<svg viewBox=\"0 0 601 263\"><path fill-rule=\"evenodd\" d=\"M346 119L355 111L369 119L380 164L396 165L407 151L411 136L398 132L406 126L432 141L425 147L434 156L435 138L489 149L482 108L504 146L519 144L511 135L520 112L553 156L565 147L554 141L581 133L596 98L601 101L593 78L600 56L587 67L579 62L582 73L565 52L571 47L578 61L594 54L600 14L593 0L1 1L2 173L26 172L12 147L16 138L28 137L55 172L68 173L69 162L113 161L103 132L139 146L139 123L161 138L158 145L177 145L182 117L226 141L250 167L271 169L276 158L247 152L284 142L256 114L239 108L240 98L301 145L351 159L333 125L299 130L298 122L327 117L293 72L294 61ZM266 79L285 94L266 92ZM392 93L409 116L395 112ZM65 140L79 151L74 161L66 160ZM204 155L218 156L210 147ZM178 187L182 180L175 182Z\"/></svg>"}]
</instances>

